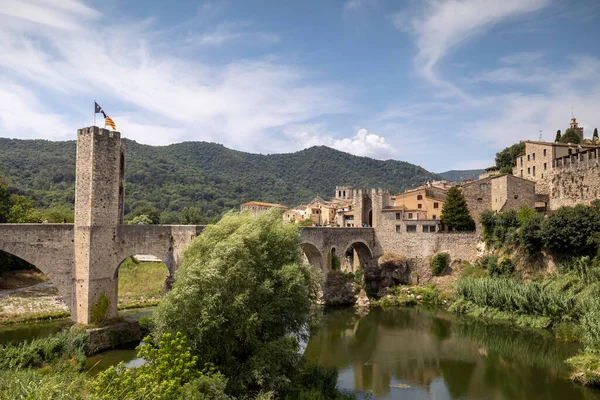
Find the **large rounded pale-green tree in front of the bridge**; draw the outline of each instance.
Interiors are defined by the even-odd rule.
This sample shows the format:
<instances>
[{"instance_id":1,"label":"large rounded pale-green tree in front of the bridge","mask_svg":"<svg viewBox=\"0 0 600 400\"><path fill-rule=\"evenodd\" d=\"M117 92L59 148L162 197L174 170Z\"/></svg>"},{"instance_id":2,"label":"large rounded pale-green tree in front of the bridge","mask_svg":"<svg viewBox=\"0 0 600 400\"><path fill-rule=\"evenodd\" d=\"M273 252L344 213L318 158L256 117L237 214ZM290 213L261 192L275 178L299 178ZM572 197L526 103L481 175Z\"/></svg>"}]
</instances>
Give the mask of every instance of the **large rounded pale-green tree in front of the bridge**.
<instances>
[{"instance_id":1,"label":"large rounded pale-green tree in front of the bridge","mask_svg":"<svg viewBox=\"0 0 600 400\"><path fill-rule=\"evenodd\" d=\"M233 394L287 387L318 292L299 236L279 210L226 214L185 250L156 310L156 333L181 331L201 364L230 379Z\"/></svg>"}]
</instances>

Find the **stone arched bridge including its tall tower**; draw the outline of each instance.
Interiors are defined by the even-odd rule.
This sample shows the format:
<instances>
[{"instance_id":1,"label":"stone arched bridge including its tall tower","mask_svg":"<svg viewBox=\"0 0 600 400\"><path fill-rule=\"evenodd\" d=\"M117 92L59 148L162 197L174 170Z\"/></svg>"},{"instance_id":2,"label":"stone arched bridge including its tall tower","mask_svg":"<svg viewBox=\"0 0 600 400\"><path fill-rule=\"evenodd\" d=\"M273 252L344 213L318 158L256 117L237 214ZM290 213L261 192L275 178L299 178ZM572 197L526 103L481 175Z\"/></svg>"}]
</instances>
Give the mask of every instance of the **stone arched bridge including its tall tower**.
<instances>
[{"instance_id":1,"label":"stone arched bridge including its tall tower","mask_svg":"<svg viewBox=\"0 0 600 400\"><path fill-rule=\"evenodd\" d=\"M35 265L58 289L73 321L89 324L117 316L118 268L134 254L153 254L174 279L183 249L201 225L125 225L125 142L96 126L77 131L74 224L0 224L0 250ZM358 252L376 259L370 228L304 228L302 248L327 274L327 254Z\"/></svg>"}]
</instances>

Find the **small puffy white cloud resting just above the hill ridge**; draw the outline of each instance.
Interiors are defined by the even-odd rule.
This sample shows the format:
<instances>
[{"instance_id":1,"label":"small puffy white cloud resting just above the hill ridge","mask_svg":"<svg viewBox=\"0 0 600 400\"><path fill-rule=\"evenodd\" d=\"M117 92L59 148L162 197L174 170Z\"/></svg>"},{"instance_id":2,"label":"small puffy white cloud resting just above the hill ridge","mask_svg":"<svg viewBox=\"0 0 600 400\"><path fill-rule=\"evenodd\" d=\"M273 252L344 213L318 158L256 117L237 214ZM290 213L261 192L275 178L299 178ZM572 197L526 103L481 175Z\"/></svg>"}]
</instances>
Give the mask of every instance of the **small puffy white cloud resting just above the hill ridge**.
<instances>
[{"instance_id":1,"label":"small puffy white cloud resting just above the hill ridge","mask_svg":"<svg viewBox=\"0 0 600 400\"><path fill-rule=\"evenodd\" d=\"M322 124L289 126L285 133L294 139L302 148L312 146L328 146L357 156L373 158L389 158L394 149L382 136L369 133L364 128L358 129L356 135L337 139L327 134Z\"/></svg>"}]
</instances>

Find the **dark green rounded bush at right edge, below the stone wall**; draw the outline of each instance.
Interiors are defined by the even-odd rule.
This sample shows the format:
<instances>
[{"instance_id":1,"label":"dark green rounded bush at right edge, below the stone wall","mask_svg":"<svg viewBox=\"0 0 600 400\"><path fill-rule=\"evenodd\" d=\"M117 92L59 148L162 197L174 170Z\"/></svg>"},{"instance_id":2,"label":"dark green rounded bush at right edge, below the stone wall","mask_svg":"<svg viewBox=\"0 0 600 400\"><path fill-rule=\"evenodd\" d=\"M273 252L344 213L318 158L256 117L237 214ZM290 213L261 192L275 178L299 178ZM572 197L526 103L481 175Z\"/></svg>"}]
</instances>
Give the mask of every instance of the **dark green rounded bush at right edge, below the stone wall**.
<instances>
[{"instance_id":1,"label":"dark green rounded bush at right edge, below the stone wall","mask_svg":"<svg viewBox=\"0 0 600 400\"><path fill-rule=\"evenodd\" d=\"M565 257L595 255L597 245L593 238L598 232L600 209L594 206L561 207L542 223L544 246Z\"/></svg>"}]
</instances>

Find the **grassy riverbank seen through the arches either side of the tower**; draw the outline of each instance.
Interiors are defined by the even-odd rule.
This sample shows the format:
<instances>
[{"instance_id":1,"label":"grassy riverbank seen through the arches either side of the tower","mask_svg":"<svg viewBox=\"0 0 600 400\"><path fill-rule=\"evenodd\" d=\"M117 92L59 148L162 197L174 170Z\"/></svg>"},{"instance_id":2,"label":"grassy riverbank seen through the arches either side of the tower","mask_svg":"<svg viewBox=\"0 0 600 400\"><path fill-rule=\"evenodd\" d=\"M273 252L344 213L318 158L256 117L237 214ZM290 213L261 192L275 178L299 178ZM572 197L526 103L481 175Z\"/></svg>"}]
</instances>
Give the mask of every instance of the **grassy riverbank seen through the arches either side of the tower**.
<instances>
[{"instance_id":1,"label":"grassy riverbank seen through the arches either side of the tower","mask_svg":"<svg viewBox=\"0 0 600 400\"><path fill-rule=\"evenodd\" d=\"M153 307L163 296L168 270L163 263L125 260L119 268L118 309ZM0 276L0 324L10 325L69 318L60 293L37 270L11 271Z\"/></svg>"}]
</instances>

